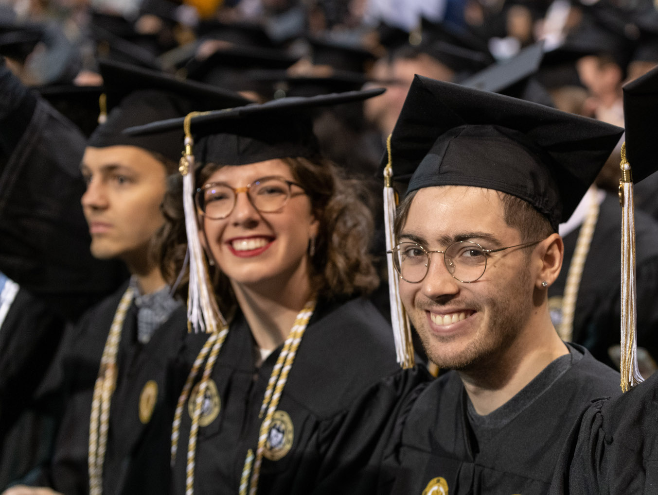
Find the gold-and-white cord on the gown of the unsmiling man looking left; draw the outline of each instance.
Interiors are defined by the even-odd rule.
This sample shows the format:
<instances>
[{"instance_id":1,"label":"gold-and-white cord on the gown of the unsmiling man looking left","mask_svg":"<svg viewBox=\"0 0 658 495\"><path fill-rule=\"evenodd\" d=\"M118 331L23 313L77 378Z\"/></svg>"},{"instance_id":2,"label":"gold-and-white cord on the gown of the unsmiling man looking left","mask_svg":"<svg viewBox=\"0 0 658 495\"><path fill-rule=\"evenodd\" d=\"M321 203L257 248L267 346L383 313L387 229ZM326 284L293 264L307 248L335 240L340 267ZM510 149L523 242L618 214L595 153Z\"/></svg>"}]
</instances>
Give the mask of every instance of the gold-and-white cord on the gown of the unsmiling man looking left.
<instances>
[{"instance_id":1,"label":"gold-and-white cord on the gown of the unsmiling man looking left","mask_svg":"<svg viewBox=\"0 0 658 495\"><path fill-rule=\"evenodd\" d=\"M121 341L126 312L132 304L133 295L132 288L128 287L116 308L112 326L107 335L107 341L105 341L105 348L103 348L98 377L93 387L89 419L89 495L103 493L103 462L107 448L110 404L116 385L116 354Z\"/></svg>"}]
</instances>

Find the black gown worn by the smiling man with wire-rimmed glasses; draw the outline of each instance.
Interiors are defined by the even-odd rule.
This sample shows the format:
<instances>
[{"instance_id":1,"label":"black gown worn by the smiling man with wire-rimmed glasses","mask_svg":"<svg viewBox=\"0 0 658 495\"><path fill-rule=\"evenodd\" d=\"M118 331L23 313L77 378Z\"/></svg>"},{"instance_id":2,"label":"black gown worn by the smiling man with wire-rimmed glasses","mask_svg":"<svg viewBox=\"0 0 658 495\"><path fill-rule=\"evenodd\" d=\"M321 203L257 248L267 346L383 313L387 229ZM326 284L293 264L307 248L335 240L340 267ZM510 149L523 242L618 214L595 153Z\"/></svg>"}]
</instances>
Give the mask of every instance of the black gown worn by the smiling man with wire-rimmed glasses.
<instances>
[{"instance_id":1,"label":"black gown worn by the smiling man with wire-rimmed glasses","mask_svg":"<svg viewBox=\"0 0 658 495\"><path fill-rule=\"evenodd\" d=\"M420 495L428 486L435 487L433 495L547 493L557 457L582 410L595 398L620 393L619 374L577 349L582 359L480 445L456 371L417 390L397 419L380 493Z\"/></svg>"}]
</instances>

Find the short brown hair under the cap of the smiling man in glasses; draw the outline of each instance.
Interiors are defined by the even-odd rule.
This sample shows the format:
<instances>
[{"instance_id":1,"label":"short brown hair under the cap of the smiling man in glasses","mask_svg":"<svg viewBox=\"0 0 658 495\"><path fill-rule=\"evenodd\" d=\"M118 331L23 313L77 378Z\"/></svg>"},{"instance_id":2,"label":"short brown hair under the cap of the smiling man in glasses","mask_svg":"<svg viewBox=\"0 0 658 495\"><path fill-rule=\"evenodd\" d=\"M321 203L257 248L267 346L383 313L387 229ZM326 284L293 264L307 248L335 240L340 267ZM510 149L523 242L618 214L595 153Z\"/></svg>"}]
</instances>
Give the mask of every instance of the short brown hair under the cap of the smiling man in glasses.
<instances>
[{"instance_id":1,"label":"short brown hair under the cap of the smiling man in glasses","mask_svg":"<svg viewBox=\"0 0 658 495\"><path fill-rule=\"evenodd\" d=\"M393 227L396 238L399 237L407 223L409 208L417 192L418 190L409 193L397 208ZM503 203L505 224L519 231L522 243L545 239L555 233L555 229L551 227L548 218L542 215L532 204L511 194L502 193L501 191L496 192Z\"/></svg>"}]
</instances>

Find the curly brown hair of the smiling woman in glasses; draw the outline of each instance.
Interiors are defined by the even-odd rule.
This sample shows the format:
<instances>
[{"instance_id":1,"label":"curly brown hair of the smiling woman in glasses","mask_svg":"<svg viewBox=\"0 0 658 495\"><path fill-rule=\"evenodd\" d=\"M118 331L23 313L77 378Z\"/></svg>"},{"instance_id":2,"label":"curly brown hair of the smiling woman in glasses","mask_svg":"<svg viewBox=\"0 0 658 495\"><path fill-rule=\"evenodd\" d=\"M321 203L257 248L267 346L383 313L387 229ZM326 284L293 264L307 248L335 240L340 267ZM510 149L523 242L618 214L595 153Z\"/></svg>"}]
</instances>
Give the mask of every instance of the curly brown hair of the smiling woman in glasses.
<instances>
[{"instance_id":1,"label":"curly brown hair of the smiling woman in glasses","mask_svg":"<svg viewBox=\"0 0 658 495\"><path fill-rule=\"evenodd\" d=\"M303 185L320 229L311 258L311 283L323 298L366 295L379 285L379 278L368 252L373 220L367 206L368 192L355 179L348 179L325 158L283 158L291 173ZM197 170L196 183L203 184L220 165L207 164ZM165 225L157 234L159 264L168 283L176 285L176 295L187 297L188 274L182 272L187 239L182 205L182 177L168 178L163 201ZM220 310L233 314L236 299L228 277L216 266L209 272ZM176 280L177 277L180 279Z\"/></svg>"}]
</instances>

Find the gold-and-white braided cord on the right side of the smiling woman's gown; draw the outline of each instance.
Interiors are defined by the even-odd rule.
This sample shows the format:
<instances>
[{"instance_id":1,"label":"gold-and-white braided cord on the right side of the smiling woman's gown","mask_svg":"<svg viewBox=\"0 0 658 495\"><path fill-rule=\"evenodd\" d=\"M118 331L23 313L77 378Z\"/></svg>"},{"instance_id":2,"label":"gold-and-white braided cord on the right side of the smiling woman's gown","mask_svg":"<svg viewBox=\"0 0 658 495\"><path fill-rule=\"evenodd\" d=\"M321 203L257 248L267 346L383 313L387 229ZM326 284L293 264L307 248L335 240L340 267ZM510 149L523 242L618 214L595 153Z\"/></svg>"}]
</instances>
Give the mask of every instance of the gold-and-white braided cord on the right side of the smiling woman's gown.
<instances>
[{"instance_id":1,"label":"gold-and-white braided cord on the right side of the smiling woman's gown","mask_svg":"<svg viewBox=\"0 0 658 495\"><path fill-rule=\"evenodd\" d=\"M274 417L274 412L276 412L279 400L284 387L286 386L288 373L290 373L290 369L295 361L295 355L297 354L297 348L299 348L299 344L301 343L301 338L303 337L306 327L309 324L309 320L315 311L315 304L315 300L310 300L305 304L301 312L297 314L295 323L290 330L290 335L288 335L288 339L284 342L284 348L279 355L276 365L272 369L272 374L270 375L265 390L265 396L263 397L263 405L261 406L261 412L267 410L267 414L265 415L265 420L261 424L256 454L254 455L253 450L251 449L247 452L247 458L245 459L240 481L240 495L247 494L247 482L250 473L251 483L249 484L249 495L256 495L258 480L261 475L261 464L263 463L267 435L270 430L270 425L272 424L272 417ZM286 355L282 357L286 350Z\"/></svg>"}]
</instances>

